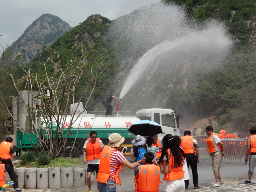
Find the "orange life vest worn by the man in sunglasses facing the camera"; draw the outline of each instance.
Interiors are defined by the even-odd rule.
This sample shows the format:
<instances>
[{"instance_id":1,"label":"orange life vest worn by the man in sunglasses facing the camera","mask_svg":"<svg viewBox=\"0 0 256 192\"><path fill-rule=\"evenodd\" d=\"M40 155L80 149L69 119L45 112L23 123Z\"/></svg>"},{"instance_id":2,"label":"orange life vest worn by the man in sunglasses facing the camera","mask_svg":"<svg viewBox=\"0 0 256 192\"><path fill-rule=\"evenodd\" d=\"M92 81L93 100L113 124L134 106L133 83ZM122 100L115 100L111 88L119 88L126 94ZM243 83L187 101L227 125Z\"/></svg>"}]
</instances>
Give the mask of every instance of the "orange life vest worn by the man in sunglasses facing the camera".
<instances>
[{"instance_id":1,"label":"orange life vest worn by the man in sunglasses facing the camera","mask_svg":"<svg viewBox=\"0 0 256 192\"><path fill-rule=\"evenodd\" d=\"M101 154L100 138L97 138L95 143L92 144L91 139L87 139L87 160L99 159Z\"/></svg>"}]
</instances>

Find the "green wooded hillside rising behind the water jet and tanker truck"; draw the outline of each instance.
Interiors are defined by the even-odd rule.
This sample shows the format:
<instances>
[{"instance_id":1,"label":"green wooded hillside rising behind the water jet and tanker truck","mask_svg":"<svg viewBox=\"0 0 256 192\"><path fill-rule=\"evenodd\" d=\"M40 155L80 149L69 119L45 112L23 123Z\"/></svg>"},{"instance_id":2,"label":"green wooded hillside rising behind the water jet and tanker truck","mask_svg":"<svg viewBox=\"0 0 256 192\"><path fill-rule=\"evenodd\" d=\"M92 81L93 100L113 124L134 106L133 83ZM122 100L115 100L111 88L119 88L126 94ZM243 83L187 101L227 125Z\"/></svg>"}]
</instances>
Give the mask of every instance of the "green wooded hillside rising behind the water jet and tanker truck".
<instances>
[{"instance_id":1,"label":"green wooded hillside rising behind the water jet and tanker truck","mask_svg":"<svg viewBox=\"0 0 256 192\"><path fill-rule=\"evenodd\" d=\"M155 69L148 71L147 75L154 73L157 77L153 79L148 76L146 79L140 80L136 84L138 88L129 91L124 101L122 100L123 108L120 107L121 110L136 111L146 106L147 108L171 108L185 117L218 115L218 121L221 126L232 127L238 130L236 132L242 132L255 126L256 42L254 36L256 32L256 2L251 0L164 0L163 2L165 6L172 4L181 6L182 10L187 12L187 17L195 18L199 23L205 23L212 18L220 21L222 24L224 23L228 28L227 33L232 37L234 46L228 56L223 58L221 63L213 69L211 68L210 71L203 71L204 63L195 68L197 73L189 73L189 70L187 73L184 73L183 69L179 69L179 65L176 65L174 68L163 69L155 67ZM87 47L87 49L107 50L102 53L102 56L105 59L104 62L111 65L105 72L104 78L97 85L100 94L89 110L105 110L101 104L102 98L111 90L115 91L117 95L121 92L125 78L139 57L156 46L159 40L172 38L172 34L167 33L167 36L164 36L160 32L158 33L158 30L156 30L157 35L152 37L154 32L153 30L150 31L150 25L146 29L140 28L139 25L139 22L148 21L130 19L131 15L139 15L142 13L142 10L145 13L147 9L143 7L114 21L110 21L100 15L92 15L60 37L51 46L51 49L58 51L60 62L63 65L81 55L81 45ZM161 14L161 10L159 13L149 13L150 11L148 11L148 14ZM161 19L158 20L159 26L163 25ZM164 19L162 21L165 24L172 22L171 20ZM117 30L111 28L114 24L118 25L124 22L125 27L123 28L119 27ZM129 28L131 28L130 25L132 23L137 23L138 25L130 33ZM169 28L166 30L171 31ZM127 31L126 36L121 35L123 31ZM145 37L144 34L146 32L148 33ZM144 39L144 44L140 42L141 39ZM42 53L41 59L44 61L48 59L46 52ZM181 58L176 62L181 64L188 62L189 59ZM34 73L39 74L41 69L40 65L38 65L38 58L35 58L31 65ZM48 72L54 75L56 72L54 66L49 63L47 67ZM184 68L189 67L185 66ZM11 70L15 79L23 76L19 68ZM1 75L2 77L4 77L3 74ZM164 78L161 79L162 76ZM79 86L83 87L86 81L87 79L84 77ZM42 83L46 84L47 82ZM20 88L24 88L22 83ZM81 93L78 91L77 96L79 94ZM154 100L148 100L149 96L152 96ZM82 102L85 102L85 100Z\"/></svg>"}]
</instances>

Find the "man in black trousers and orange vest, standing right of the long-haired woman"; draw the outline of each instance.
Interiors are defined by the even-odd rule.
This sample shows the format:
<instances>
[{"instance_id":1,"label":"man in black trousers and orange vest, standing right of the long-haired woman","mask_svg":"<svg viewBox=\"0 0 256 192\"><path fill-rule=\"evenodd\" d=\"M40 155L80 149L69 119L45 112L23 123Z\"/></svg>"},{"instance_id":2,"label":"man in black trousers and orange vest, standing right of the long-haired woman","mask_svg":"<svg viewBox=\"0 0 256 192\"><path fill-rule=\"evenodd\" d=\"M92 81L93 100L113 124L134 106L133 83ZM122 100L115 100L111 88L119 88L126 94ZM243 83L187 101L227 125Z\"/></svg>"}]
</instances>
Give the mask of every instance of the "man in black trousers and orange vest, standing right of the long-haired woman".
<instances>
[{"instance_id":1,"label":"man in black trousers and orange vest, standing right of the long-haired woman","mask_svg":"<svg viewBox=\"0 0 256 192\"><path fill-rule=\"evenodd\" d=\"M198 174L197 174L197 163L199 162L199 146L197 141L191 137L190 131L184 131L184 137L181 137L181 147L185 154L188 156L187 168L189 166L192 170L194 189L199 189L198 186ZM195 147L196 155L194 154L193 148ZM189 186L189 180L185 180L185 189Z\"/></svg>"}]
</instances>

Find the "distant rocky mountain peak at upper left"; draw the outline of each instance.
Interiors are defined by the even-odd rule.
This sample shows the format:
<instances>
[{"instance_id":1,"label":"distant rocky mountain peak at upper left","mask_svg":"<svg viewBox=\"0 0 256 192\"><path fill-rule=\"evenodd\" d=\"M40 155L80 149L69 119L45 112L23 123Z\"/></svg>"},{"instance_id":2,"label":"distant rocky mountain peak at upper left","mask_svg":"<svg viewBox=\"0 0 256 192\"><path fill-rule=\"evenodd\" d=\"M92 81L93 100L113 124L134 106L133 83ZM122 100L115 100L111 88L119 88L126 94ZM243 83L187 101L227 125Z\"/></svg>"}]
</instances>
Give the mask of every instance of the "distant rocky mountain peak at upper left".
<instances>
[{"instance_id":1,"label":"distant rocky mountain peak at upper left","mask_svg":"<svg viewBox=\"0 0 256 192\"><path fill-rule=\"evenodd\" d=\"M60 36L70 31L72 28L69 24L61 20L58 16L51 14L41 15L36 19L10 47L15 56L22 50L26 51L28 62L35 56L35 48L40 51L42 46L49 47ZM25 57L23 57L25 58ZM25 60L25 62L27 62Z\"/></svg>"}]
</instances>

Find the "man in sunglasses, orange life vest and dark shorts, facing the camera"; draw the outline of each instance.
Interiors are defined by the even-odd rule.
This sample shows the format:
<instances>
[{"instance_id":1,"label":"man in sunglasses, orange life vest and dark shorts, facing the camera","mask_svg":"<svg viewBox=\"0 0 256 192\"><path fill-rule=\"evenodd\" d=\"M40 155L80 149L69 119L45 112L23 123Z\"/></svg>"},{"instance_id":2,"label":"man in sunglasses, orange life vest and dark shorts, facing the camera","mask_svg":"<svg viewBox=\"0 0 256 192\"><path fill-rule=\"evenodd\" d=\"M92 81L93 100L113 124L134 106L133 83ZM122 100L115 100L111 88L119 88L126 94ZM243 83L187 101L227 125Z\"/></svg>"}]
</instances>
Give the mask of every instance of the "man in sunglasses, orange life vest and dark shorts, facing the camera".
<instances>
[{"instance_id":1,"label":"man in sunglasses, orange life vest and dark shorts, facing the camera","mask_svg":"<svg viewBox=\"0 0 256 192\"><path fill-rule=\"evenodd\" d=\"M90 139L87 139L84 143L84 164L86 164L86 160L88 160L88 167L87 167L87 185L89 192L92 192L91 189L91 177L92 173L96 172L96 178L98 177L99 172L99 164L100 164L100 154L104 147L104 144L100 140L100 138L97 138L97 133L95 131L91 131L90 133ZM86 157L87 152L87 157ZM97 182L97 192L99 192L98 189L98 182Z\"/></svg>"}]
</instances>

